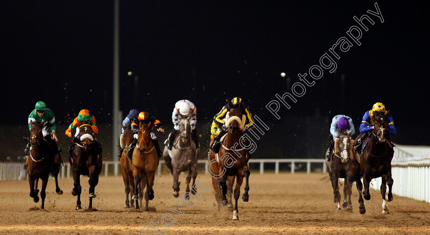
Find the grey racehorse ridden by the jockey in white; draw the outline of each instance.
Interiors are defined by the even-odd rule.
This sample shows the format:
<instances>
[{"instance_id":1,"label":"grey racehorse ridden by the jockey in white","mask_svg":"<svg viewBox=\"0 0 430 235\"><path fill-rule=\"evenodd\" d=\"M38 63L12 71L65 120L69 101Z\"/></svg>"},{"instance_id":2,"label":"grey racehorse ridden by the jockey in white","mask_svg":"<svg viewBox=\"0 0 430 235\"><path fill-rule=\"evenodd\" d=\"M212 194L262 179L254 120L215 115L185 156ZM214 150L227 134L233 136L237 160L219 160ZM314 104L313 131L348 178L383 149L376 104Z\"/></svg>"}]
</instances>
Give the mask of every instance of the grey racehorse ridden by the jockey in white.
<instances>
[{"instance_id":1,"label":"grey racehorse ridden by the jockey in white","mask_svg":"<svg viewBox=\"0 0 430 235\"><path fill-rule=\"evenodd\" d=\"M197 177L197 152L196 143L191 140L191 126L189 119L182 118L179 122L179 135L174 141L175 148L171 151L164 147L163 158L167 167L170 169L171 175L173 176L173 196L179 197L179 173L188 170L188 176L186 177L185 183L187 188L186 193L189 193L189 183L192 177L192 187L195 187ZM195 190L191 190L191 194L194 195ZM188 195L187 195L188 196Z\"/></svg>"}]
</instances>

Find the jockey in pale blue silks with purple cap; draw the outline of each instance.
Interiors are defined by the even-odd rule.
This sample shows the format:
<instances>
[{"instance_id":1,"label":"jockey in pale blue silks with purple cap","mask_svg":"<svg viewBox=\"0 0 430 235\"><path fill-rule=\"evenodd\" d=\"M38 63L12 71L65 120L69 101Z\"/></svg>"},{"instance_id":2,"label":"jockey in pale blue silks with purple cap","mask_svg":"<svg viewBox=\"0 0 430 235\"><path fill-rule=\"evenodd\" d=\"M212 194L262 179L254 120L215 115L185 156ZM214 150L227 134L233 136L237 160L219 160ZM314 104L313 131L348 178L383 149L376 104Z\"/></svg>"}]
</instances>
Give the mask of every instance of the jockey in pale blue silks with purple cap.
<instances>
[{"instance_id":1,"label":"jockey in pale blue silks with purple cap","mask_svg":"<svg viewBox=\"0 0 430 235\"><path fill-rule=\"evenodd\" d=\"M354 135L355 130L354 124L352 123L352 119L345 115L334 116L330 125L330 133L333 136L333 140L330 140L330 147L326 154L327 161L330 161L329 156L333 151L335 140L339 138L339 133L344 133L345 135L350 136L350 138L352 135Z\"/></svg>"}]
</instances>

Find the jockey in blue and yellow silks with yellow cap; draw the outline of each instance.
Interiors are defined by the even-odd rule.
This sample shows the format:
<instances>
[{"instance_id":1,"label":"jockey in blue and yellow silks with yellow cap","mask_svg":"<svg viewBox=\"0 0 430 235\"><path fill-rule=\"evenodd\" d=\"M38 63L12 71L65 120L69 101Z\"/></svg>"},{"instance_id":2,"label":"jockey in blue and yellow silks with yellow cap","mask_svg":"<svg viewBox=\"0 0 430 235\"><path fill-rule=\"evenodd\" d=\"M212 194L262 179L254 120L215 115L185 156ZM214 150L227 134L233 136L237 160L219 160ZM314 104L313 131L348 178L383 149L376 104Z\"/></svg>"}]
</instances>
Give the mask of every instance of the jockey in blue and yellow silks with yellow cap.
<instances>
[{"instance_id":1,"label":"jockey in blue and yellow silks with yellow cap","mask_svg":"<svg viewBox=\"0 0 430 235\"><path fill-rule=\"evenodd\" d=\"M360 135L357 139L357 143L354 145L355 151L357 153L361 153L361 145L363 141L369 136L369 134L372 132L372 130L375 128L375 121L374 117L378 116L379 114L386 114L387 111L385 109L385 105L383 103L375 103L373 105L373 108L369 111L366 111L363 116L363 120L360 124ZM394 120L391 114L388 115L388 133L391 135L397 135L396 127L394 126ZM388 138L389 139L389 138ZM390 141L390 139L389 139ZM391 141L390 141L391 142ZM394 144L391 142L391 145L394 146ZM391 150L394 153L394 150Z\"/></svg>"}]
</instances>

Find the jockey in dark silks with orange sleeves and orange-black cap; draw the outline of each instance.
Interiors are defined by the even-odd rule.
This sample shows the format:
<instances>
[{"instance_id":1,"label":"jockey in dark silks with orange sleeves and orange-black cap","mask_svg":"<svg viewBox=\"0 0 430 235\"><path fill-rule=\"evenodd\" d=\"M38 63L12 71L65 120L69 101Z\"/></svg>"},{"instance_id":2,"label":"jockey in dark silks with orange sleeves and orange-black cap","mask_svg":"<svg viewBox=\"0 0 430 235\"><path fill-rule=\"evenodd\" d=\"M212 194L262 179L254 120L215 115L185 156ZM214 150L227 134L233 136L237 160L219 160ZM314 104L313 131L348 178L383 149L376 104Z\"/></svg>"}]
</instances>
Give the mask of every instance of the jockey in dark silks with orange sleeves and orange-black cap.
<instances>
[{"instance_id":1,"label":"jockey in dark silks with orange sleeves and orange-black cap","mask_svg":"<svg viewBox=\"0 0 430 235\"><path fill-rule=\"evenodd\" d=\"M151 131L155 127L157 129L157 131L164 133L164 129L161 126L161 122L159 120L155 119L155 117L150 115L148 112L141 112L138 116L138 120L140 123L142 123L144 125L145 124L147 125L149 122L151 122L151 127L150 127ZM137 144L137 138L138 138L137 132L138 132L138 130L139 130L139 125L136 122L132 122L132 132L135 134L134 134L134 139L133 139L132 145L130 146L130 148L128 148L128 151L127 151L127 157L130 159L132 159L133 149ZM150 135L151 135L151 140L154 143L154 147L157 151L157 155L160 158L163 153L161 152L160 144L158 144L157 136L153 132L151 132Z\"/></svg>"}]
</instances>

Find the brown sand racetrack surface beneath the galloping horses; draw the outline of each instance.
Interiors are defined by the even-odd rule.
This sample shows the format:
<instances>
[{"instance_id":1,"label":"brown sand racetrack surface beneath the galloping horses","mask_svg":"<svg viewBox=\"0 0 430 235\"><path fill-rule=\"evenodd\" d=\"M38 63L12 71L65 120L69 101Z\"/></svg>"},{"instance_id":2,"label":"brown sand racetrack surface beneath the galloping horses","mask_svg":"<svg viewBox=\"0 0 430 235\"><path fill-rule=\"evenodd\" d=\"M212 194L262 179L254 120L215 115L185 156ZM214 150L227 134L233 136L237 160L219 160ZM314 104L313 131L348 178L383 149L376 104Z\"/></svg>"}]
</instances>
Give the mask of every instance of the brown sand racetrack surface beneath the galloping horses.
<instances>
[{"instance_id":1,"label":"brown sand racetrack surface beneath the galloping horses","mask_svg":"<svg viewBox=\"0 0 430 235\"><path fill-rule=\"evenodd\" d=\"M261 234L261 233L430 233L430 203L394 196L388 203L390 215L381 215L381 196L372 191L372 199L365 201L367 213L358 212L358 198L353 187L353 211L337 211L333 203L330 182L321 174L264 174L250 176L249 202L239 201L239 221L232 221L232 212L220 212L214 204L209 176L199 172L197 177L209 189L200 190L202 198L195 205L182 204L183 216L169 211L178 209L173 197L172 178L156 176L155 199L149 202L150 212L124 209L124 186L121 177L100 177L96 187L94 208L99 211L76 211L76 197L70 193L73 180L60 179L63 195L55 194L54 181L47 188L46 210L29 197L28 181L0 182L0 233L52 234L138 234L150 222L161 220L164 213L173 213L176 223L166 228L167 234ZM394 179L396 183L396 179ZM185 190L185 176L180 176L181 196ZM82 207L88 207L88 178L82 177ZM243 187L241 190L241 197ZM343 192L342 199L343 199ZM36 207L37 206L37 207ZM150 228L144 234L156 232Z\"/></svg>"}]
</instances>

